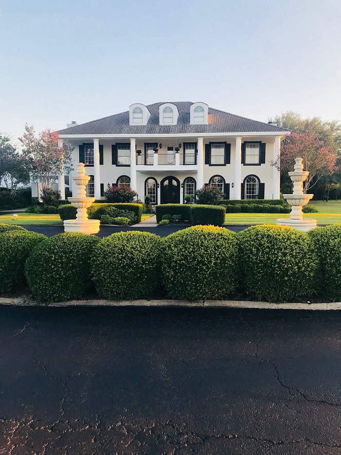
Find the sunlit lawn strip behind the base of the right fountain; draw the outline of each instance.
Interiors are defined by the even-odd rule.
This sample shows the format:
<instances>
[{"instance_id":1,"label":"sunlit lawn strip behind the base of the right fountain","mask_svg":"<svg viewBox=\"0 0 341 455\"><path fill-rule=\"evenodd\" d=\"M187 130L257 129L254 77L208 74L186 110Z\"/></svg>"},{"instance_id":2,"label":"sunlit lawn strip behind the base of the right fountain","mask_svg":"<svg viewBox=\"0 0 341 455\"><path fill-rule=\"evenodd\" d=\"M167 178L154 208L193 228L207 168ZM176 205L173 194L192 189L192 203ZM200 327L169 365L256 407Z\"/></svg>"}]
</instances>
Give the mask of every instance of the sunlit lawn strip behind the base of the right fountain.
<instances>
[{"instance_id":1,"label":"sunlit lawn strip behind the base of the right fountain","mask_svg":"<svg viewBox=\"0 0 341 455\"><path fill-rule=\"evenodd\" d=\"M225 224L276 224L277 218L289 218L287 213L227 213ZM317 224L341 223L341 213L306 213L304 218L314 218Z\"/></svg>"}]
</instances>

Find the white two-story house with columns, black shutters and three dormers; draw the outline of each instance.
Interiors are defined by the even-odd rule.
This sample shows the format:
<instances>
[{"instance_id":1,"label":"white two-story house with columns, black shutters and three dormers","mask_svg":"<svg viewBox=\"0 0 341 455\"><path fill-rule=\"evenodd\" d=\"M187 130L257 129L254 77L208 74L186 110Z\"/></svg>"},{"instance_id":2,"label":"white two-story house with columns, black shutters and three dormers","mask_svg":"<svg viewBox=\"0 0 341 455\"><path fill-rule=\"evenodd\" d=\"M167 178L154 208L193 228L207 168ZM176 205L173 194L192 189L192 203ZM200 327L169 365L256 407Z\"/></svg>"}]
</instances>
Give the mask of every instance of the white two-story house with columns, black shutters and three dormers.
<instances>
[{"instance_id":1,"label":"white two-story house with columns, black shutters and three dormers","mask_svg":"<svg viewBox=\"0 0 341 455\"><path fill-rule=\"evenodd\" d=\"M91 176L88 196L108 186L136 190L154 204L183 203L204 185L224 199L278 199L280 173L272 165L289 132L209 107L204 102L133 104L129 110L60 130L75 145L75 163ZM69 178L72 191L72 173ZM59 178L65 196L64 176Z\"/></svg>"}]
</instances>

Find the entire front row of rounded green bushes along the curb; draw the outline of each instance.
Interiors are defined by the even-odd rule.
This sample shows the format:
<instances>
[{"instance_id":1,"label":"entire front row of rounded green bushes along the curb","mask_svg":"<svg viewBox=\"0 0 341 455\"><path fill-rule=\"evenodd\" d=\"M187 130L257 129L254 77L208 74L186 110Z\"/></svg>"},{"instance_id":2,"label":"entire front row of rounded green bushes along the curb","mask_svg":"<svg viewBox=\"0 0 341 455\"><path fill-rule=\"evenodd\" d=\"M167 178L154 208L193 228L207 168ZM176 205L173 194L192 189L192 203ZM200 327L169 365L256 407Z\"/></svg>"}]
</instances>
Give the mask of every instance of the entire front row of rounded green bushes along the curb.
<instances>
[{"instance_id":1,"label":"entire front row of rounded green bushes along the curb","mask_svg":"<svg viewBox=\"0 0 341 455\"><path fill-rule=\"evenodd\" d=\"M226 298L238 291L267 301L314 293L340 300L340 262L341 225L308 234L276 225L239 234L192 226L165 238L130 231L103 239L12 230L0 234L0 292L26 276L34 296L45 301L79 298L91 286L112 299L152 298L163 286L173 298Z\"/></svg>"}]
</instances>

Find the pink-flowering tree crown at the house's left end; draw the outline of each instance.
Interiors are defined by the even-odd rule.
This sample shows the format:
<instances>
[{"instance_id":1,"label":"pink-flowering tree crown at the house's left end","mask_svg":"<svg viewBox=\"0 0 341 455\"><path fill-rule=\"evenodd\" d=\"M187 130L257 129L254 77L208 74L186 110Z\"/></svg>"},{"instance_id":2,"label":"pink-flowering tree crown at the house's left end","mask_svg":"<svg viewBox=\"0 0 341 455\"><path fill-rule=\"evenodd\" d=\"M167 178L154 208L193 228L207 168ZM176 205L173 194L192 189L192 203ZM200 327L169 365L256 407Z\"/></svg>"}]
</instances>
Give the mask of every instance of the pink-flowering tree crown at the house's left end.
<instances>
[{"instance_id":1,"label":"pink-flowering tree crown at the house's left end","mask_svg":"<svg viewBox=\"0 0 341 455\"><path fill-rule=\"evenodd\" d=\"M26 123L25 132L18 139L22 143L22 156L29 163L31 179L38 183L41 192L52 189L62 170L66 174L72 170L74 147L67 142L58 147L57 131L47 129L37 137L33 126Z\"/></svg>"}]
</instances>

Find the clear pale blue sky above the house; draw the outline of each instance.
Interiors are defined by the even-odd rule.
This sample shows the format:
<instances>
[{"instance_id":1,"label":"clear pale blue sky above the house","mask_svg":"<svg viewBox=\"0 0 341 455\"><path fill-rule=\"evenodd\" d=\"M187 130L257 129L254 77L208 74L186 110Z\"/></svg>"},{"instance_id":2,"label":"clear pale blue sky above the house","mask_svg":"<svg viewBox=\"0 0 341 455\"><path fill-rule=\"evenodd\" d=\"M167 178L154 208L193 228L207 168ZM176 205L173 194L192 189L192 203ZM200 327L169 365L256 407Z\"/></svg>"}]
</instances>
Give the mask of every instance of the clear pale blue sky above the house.
<instances>
[{"instance_id":1,"label":"clear pale blue sky above the house","mask_svg":"<svg viewBox=\"0 0 341 455\"><path fill-rule=\"evenodd\" d=\"M341 119L340 0L0 0L0 131L134 102Z\"/></svg>"}]
</instances>

